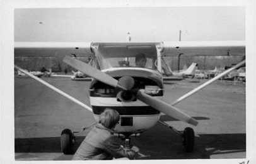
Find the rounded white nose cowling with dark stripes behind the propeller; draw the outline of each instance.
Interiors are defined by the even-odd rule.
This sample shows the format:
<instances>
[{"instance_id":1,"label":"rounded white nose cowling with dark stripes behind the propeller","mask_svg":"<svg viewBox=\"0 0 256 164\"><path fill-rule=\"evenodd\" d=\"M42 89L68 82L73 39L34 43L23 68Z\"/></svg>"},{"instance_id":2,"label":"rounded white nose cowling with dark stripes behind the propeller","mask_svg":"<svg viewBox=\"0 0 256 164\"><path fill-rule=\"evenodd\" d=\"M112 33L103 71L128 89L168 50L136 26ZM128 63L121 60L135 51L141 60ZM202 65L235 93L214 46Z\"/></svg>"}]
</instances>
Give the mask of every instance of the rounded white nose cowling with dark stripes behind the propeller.
<instances>
[{"instance_id":1,"label":"rounded white nose cowling with dark stripes behind the propeller","mask_svg":"<svg viewBox=\"0 0 256 164\"><path fill-rule=\"evenodd\" d=\"M148 68L108 68L102 70L115 79L130 76L134 78L134 89L139 89L158 99L163 97L163 79L160 72ZM116 133L141 133L151 128L160 118L160 111L148 106L144 102L131 98L122 101L117 97L118 90L93 80L90 86L90 102L96 121L106 108L115 109L120 114L119 124L115 127Z\"/></svg>"}]
</instances>

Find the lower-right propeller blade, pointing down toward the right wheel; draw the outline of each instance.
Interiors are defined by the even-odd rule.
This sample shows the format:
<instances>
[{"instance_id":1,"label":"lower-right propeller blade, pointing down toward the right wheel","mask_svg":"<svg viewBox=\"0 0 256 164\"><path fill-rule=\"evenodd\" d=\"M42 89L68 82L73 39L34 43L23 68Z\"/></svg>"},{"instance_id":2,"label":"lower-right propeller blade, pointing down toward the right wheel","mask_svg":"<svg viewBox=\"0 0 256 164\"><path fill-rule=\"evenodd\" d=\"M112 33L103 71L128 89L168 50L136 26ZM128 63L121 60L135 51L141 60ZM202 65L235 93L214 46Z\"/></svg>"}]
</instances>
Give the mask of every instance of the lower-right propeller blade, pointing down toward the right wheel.
<instances>
[{"instance_id":1,"label":"lower-right propeller blade, pointing down toward the right wheel","mask_svg":"<svg viewBox=\"0 0 256 164\"><path fill-rule=\"evenodd\" d=\"M194 118L191 118L189 115L180 111L178 108L173 107L170 104L167 104L166 102L160 101L159 99L155 99L154 97L149 96L148 94L145 94L143 92L137 92L137 99L143 101L149 106L154 107L154 109L157 109L158 111L161 111L175 119L185 121L194 126L197 126L198 124L198 122Z\"/></svg>"}]
</instances>

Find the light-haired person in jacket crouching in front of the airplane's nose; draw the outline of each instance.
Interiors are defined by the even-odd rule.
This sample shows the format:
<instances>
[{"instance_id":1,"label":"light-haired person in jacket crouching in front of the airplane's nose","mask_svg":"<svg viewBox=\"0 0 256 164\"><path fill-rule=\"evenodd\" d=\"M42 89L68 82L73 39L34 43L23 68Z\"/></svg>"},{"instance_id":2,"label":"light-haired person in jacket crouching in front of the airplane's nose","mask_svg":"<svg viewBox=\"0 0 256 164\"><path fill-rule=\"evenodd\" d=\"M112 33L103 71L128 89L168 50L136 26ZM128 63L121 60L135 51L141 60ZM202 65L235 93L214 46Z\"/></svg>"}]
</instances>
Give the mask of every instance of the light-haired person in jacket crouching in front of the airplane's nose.
<instances>
[{"instance_id":1,"label":"light-haired person in jacket crouching in front of the airplane's nose","mask_svg":"<svg viewBox=\"0 0 256 164\"><path fill-rule=\"evenodd\" d=\"M99 123L87 134L73 160L112 160L134 159L139 148L132 146L131 149L124 148L117 136L113 136L113 129L119 122L119 112L113 109L105 109L100 114Z\"/></svg>"}]
</instances>

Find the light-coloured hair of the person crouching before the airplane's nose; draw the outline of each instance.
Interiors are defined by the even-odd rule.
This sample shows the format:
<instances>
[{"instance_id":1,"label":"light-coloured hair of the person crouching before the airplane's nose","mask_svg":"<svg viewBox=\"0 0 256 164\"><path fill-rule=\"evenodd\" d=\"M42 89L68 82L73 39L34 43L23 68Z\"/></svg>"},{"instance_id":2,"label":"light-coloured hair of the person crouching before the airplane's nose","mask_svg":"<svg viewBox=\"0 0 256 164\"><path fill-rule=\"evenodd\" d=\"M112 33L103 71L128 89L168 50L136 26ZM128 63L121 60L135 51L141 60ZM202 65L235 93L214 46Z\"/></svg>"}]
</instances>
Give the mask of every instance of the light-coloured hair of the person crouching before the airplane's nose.
<instances>
[{"instance_id":1,"label":"light-coloured hair of the person crouching before the airplane's nose","mask_svg":"<svg viewBox=\"0 0 256 164\"><path fill-rule=\"evenodd\" d=\"M115 124L119 122L119 112L106 108L105 111L100 114L99 122L108 129L115 127Z\"/></svg>"}]
</instances>

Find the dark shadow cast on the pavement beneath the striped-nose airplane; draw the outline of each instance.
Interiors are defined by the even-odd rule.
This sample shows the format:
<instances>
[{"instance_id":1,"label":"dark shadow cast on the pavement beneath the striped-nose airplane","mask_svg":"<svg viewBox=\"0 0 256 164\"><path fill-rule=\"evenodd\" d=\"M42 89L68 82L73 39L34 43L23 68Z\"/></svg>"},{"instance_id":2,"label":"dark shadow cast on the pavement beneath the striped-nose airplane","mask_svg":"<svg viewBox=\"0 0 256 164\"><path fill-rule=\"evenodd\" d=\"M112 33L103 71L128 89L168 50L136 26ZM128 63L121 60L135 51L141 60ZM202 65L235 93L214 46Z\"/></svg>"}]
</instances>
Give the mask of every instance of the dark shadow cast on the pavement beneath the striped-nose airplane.
<instances>
[{"instance_id":1,"label":"dark shadow cast on the pavement beneath the striped-nose airplane","mask_svg":"<svg viewBox=\"0 0 256 164\"><path fill-rule=\"evenodd\" d=\"M76 138L74 151L83 139L84 136ZM185 153L180 136L173 135L169 129L163 128L161 124L156 124L154 128L149 129L137 138L132 138L131 142L140 148L143 155L146 155L145 158L137 158L137 160L207 159L211 155L246 151L245 134L200 134L200 137L195 138L194 151ZM61 153L60 137L16 138L15 153ZM236 155L232 158L245 157Z\"/></svg>"}]
</instances>

